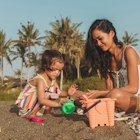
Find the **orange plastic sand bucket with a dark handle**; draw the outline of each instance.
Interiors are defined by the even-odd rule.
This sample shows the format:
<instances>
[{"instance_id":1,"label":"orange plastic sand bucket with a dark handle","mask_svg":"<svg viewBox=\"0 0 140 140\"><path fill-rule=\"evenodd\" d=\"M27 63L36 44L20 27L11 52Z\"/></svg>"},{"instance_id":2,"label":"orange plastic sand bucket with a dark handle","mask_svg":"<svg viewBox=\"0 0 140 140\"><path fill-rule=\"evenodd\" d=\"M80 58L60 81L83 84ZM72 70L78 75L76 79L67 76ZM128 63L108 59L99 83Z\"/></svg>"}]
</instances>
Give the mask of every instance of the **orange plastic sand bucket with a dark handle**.
<instances>
[{"instance_id":1,"label":"orange plastic sand bucket with a dark handle","mask_svg":"<svg viewBox=\"0 0 140 140\"><path fill-rule=\"evenodd\" d=\"M99 99L86 99L86 108L89 108ZM115 100L111 98L100 98L101 102L88 111L89 125L91 128L97 126L114 126Z\"/></svg>"}]
</instances>

